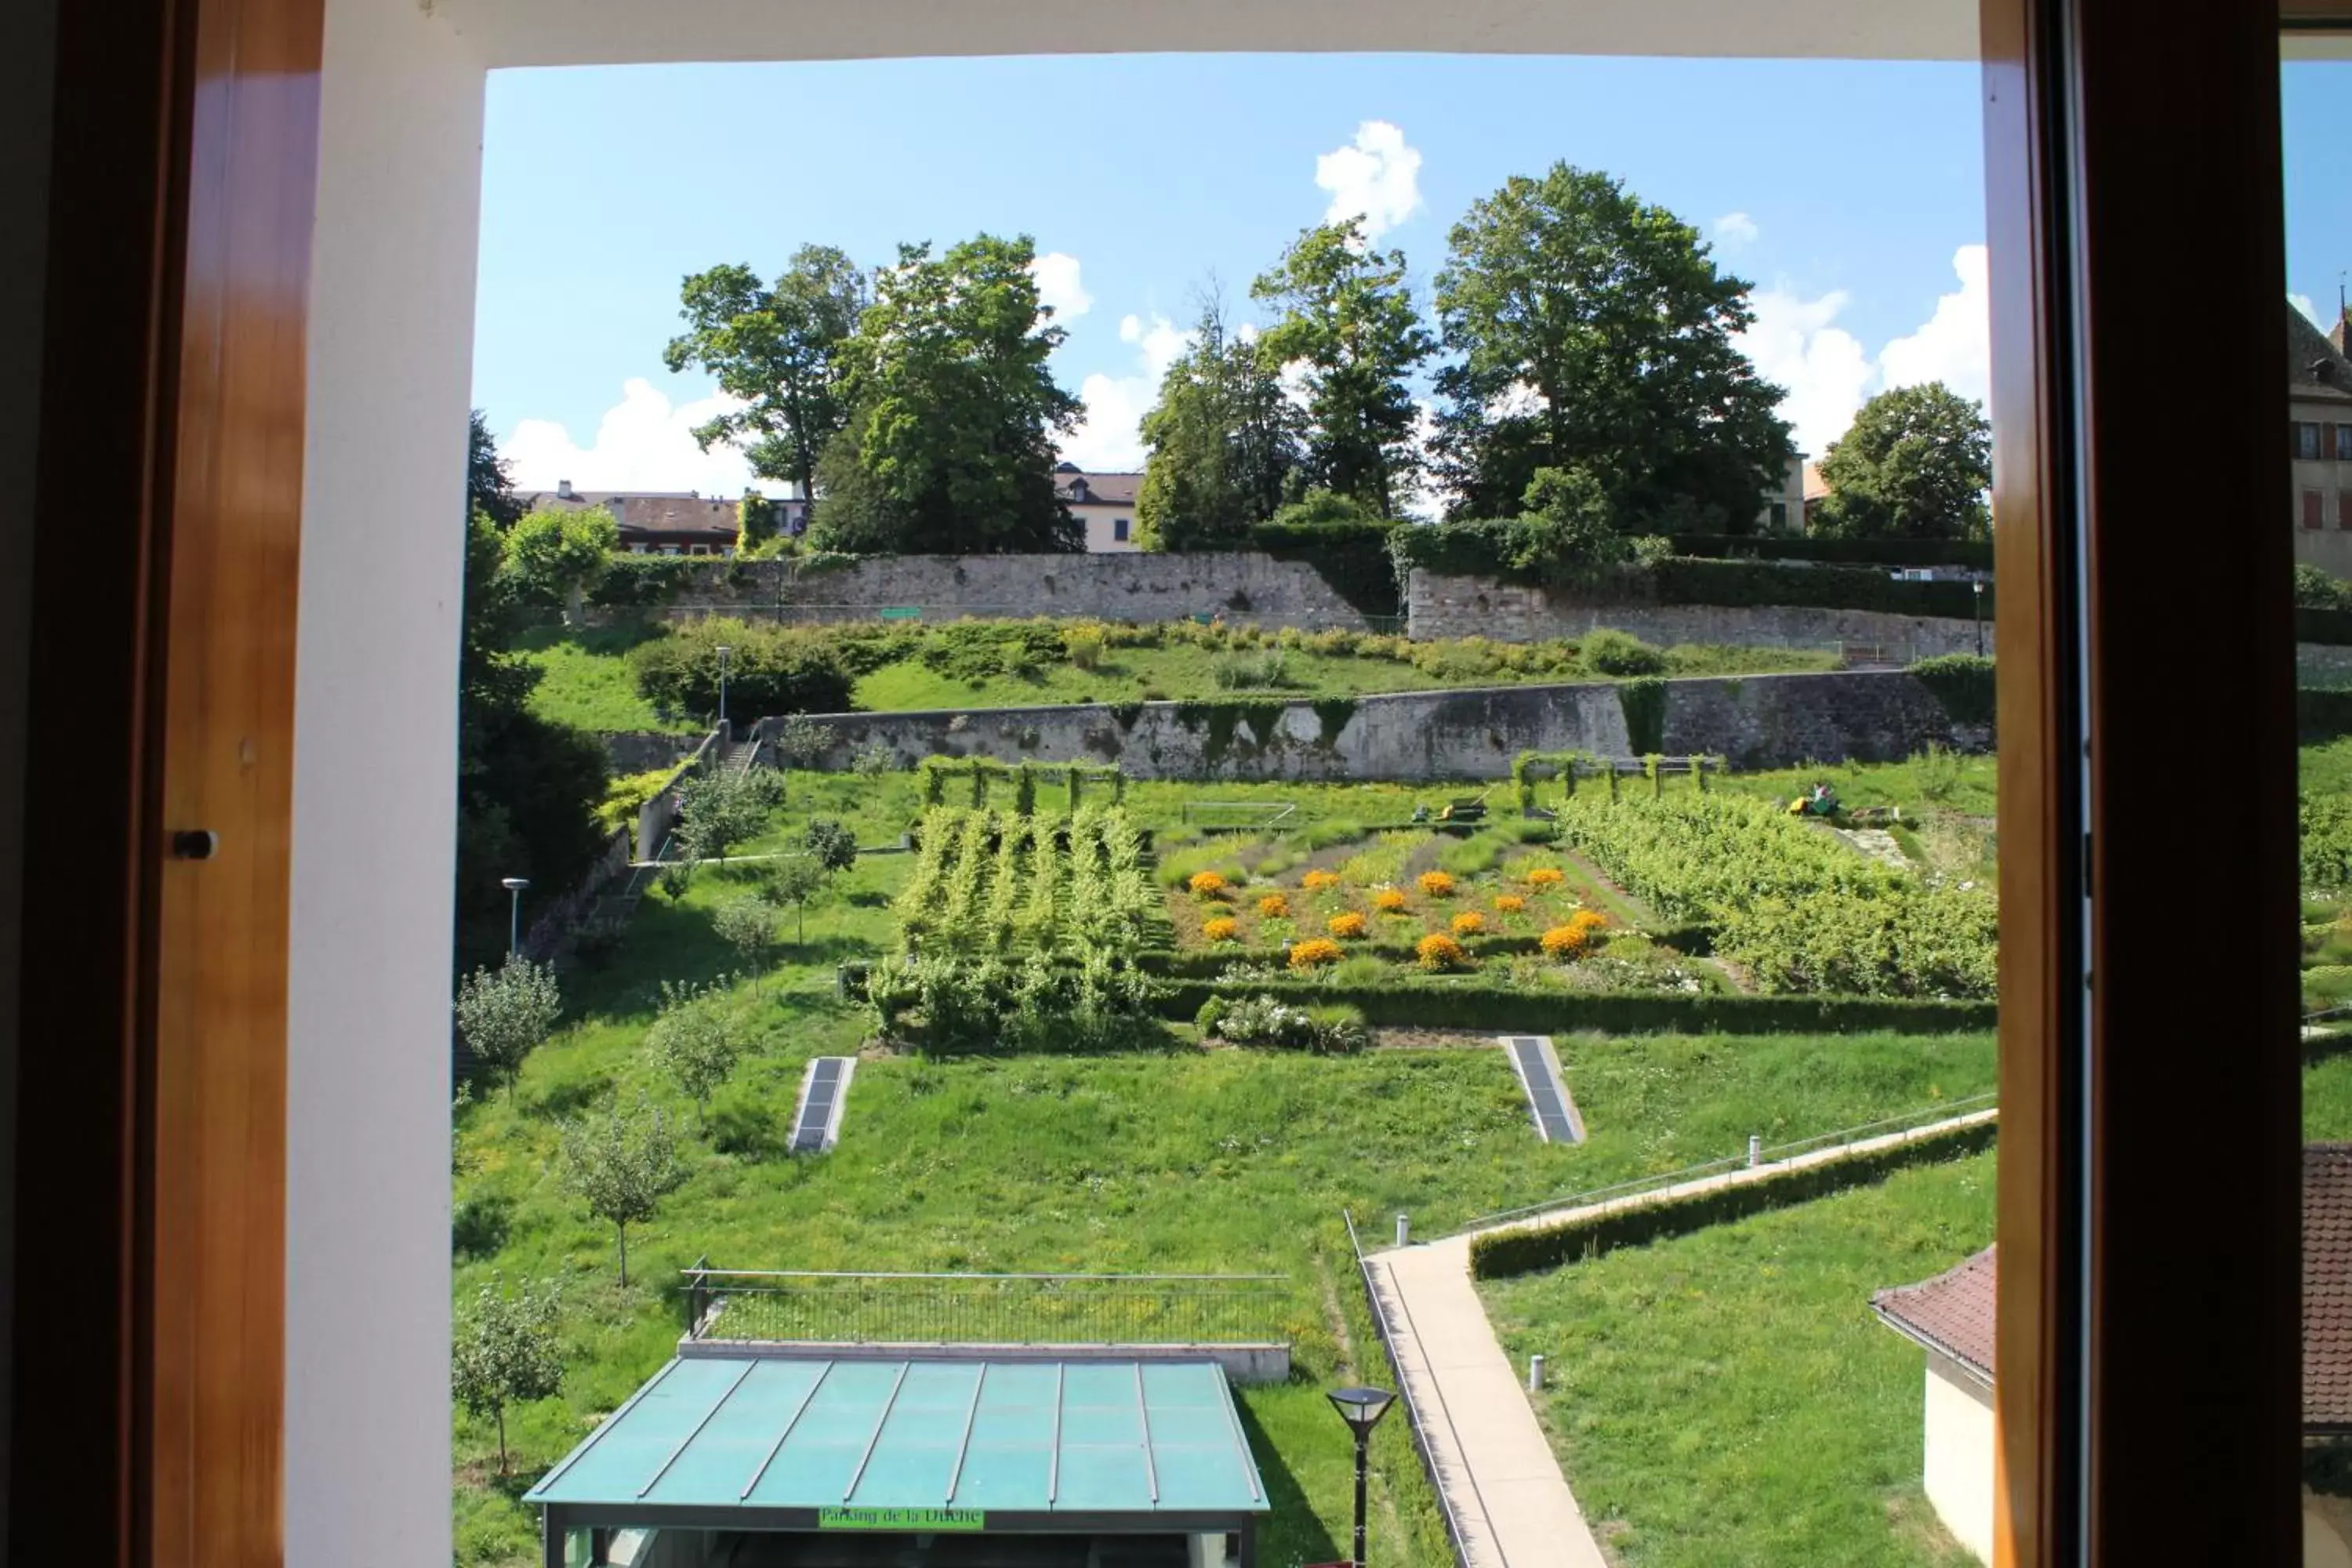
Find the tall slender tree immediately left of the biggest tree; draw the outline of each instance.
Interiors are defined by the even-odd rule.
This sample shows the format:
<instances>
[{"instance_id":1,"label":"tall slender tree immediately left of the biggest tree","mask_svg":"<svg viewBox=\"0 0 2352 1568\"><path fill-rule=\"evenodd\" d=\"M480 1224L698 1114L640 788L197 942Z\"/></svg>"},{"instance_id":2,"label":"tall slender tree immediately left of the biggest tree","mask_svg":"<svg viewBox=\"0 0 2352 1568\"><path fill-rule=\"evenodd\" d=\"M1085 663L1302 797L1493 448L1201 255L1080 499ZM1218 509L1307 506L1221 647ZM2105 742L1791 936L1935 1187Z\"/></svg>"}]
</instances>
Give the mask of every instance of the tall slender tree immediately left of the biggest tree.
<instances>
[{"instance_id":1,"label":"tall slender tree immediately left of the biggest tree","mask_svg":"<svg viewBox=\"0 0 2352 1568\"><path fill-rule=\"evenodd\" d=\"M1324 223L1298 235L1249 296L1282 313L1258 353L1303 374L1308 480L1395 517L1421 468L1404 378L1435 350L1404 252L1371 249L1362 219Z\"/></svg>"}]
</instances>

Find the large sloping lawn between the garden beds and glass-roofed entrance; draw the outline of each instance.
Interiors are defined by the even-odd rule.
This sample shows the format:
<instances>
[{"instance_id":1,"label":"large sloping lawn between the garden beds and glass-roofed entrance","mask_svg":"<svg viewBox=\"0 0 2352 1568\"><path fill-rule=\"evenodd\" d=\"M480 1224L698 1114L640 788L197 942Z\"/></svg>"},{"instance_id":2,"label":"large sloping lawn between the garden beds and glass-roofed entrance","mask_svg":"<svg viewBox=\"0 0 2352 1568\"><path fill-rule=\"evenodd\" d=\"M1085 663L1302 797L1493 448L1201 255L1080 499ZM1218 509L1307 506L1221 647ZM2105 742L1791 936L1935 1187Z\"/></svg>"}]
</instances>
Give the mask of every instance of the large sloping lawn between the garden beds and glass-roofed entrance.
<instances>
[{"instance_id":1,"label":"large sloping lawn between the garden beds and glass-roofed entrance","mask_svg":"<svg viewBox=\"0 0 2352 1568\"><path fill-rule=\"evenodd\" d=\"M795 776L767 835L807 813L851 816L856 778ZM861 839L875 835L861 830ZM722 1267L1282 1272L1296 1378L1249 1389L1244 1413L1275 1519L1268 1563L1331 1561L1350 1509L1350 1453L1324 1406L1338 1378L1388 1378L1350 1272L1341 1206L1409 1211L1421 1229L1766 1140L1851 1126L1990 1088L1992 1039L1571 1037L1569 1086L1592 1140L1534 1140L1501 1051L1355 1058L1171 1051L1108 1058L877 1058L858 1067L842 1145L786 1159L809 1056L856 1051L866 1018L833 999L833 964L891 943L889 898L910 856L866 856L811 907L807 945L734 985L753 1053L706 1126L642 1056L659 980L715 978L739 959L710 926L753 867L706 867L684 900L647 898L621 957L567 980L567 1027L529 1058L513 1103L489 1091L456 1131L456 1305L496 1279L560 1281L567 1382L508 1415L517 1474L494 1476L487 1422L456 1422L463 1563L532 1561L529 1481L668 1356L670 1293L696 1255ZM612 1229L560 1180L557 1131L619 1098L663 1105L687 1133L687 1180L630 1232L630 1284ZM1402 1422L1376 1446L1383 1568L1442 1561L1435 1505Z\"/></svg>"}]
</instances>

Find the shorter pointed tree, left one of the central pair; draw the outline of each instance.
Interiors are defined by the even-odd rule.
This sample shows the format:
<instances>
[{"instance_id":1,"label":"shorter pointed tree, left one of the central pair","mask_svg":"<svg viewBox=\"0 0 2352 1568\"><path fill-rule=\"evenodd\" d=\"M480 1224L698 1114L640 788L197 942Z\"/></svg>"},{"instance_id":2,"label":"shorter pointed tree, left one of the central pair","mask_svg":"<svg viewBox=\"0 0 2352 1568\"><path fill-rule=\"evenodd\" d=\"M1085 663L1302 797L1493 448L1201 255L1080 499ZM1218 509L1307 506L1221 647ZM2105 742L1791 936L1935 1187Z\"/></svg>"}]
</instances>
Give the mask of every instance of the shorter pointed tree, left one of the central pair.
<instances>
[{"instance_id":1,"label":"shorter pointed tree, left one of the central pair","mask_svg":"<svg viewBox=\"0 0 2352 1568\"><path fill-rule=\"evenodd\" d=\"M1145 550L1230 550L1265 522L1298 475L1305 416L1251 334L1202 299L1192 346L1160 378L1143 416L1136 543Z\"/></svg>"}]
</instances>

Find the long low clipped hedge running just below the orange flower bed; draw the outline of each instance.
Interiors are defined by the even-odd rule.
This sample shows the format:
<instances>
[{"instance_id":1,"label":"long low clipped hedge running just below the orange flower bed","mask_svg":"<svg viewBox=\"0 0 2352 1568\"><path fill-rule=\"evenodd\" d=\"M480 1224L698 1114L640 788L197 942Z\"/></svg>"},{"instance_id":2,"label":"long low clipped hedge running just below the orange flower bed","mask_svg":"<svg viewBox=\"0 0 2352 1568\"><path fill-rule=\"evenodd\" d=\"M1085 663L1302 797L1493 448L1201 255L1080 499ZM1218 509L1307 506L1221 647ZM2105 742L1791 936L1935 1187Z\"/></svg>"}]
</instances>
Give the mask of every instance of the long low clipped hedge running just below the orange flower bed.
<instances>
[{"instance_id":1,"label":"long low clipped hedge running just below the orange flower bed","mask_svg":"<svg viewBox=\"0 0 2352 1568\"><path fill-rule=\"evenodd\" d=\"M1990 1030L1990 1001L1917 1001L1910 997L1748 997L1651 992L1531 992L1508 985L1430 980L1204 980L1174 978L1162 1016L1190 1018L1209 997L1268 992L1296 1006L1345 1001L1376 1027L1472 1030L1494 1034L1952 1034Z\"/></svg>"}]
</instances>

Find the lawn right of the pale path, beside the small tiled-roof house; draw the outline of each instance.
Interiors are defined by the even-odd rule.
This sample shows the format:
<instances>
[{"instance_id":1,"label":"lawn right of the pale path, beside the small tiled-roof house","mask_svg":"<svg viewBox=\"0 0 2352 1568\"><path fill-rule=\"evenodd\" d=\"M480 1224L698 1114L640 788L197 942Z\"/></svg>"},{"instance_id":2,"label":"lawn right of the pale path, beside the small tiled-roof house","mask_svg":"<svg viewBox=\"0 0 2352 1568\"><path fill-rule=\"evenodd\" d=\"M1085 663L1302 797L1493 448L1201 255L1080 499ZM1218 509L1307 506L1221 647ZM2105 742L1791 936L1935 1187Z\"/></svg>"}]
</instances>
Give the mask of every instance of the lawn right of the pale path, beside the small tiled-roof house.
<instances>
[{"instance_id":1,"label":"lawn right of the pale path, beside the small tiled-roof house","mask_svg":"<svg viewBox=\"0 0 2352 1568\"><path fill-rule=\"evenodd\" d=\"M1992 1154L1479 1286L1632 1568L1959 1568L1919 1490L1922 1352L1870 1293L1992 1241Z\"/></svg>"}]
</instances>

